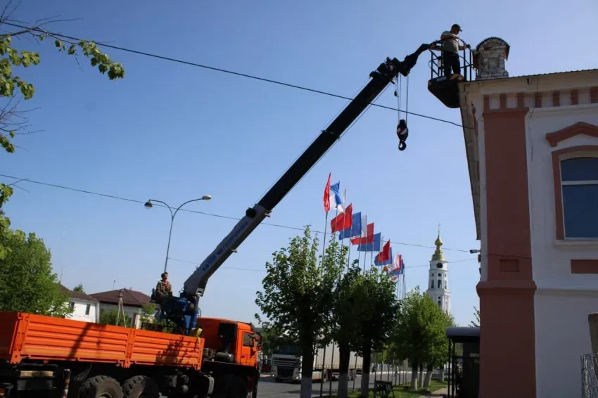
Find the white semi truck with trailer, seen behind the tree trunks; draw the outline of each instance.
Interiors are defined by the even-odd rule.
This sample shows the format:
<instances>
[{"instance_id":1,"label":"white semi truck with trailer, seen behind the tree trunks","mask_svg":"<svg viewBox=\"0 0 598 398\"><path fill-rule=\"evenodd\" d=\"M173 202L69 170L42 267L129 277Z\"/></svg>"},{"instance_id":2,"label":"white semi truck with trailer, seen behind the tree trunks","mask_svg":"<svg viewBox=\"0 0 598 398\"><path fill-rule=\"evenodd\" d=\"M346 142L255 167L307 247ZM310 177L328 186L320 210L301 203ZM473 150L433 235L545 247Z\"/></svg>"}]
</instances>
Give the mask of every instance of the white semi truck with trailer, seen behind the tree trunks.
<instances>
[{"instance_id":1,"label":"white semi truck with trailer, seen behind the tree trunks","mask_svg":"<svg viewBox=\"0 0 598 398\"><path fill-rule=\"evenodd\" d=\"M324 383L331 378L338 380L340 355L338 345L330 343L325 348L318 348L314 355L312 380ZM298 345L279 345L272 354L272 377L276 382L298 382L301 380L303 360ZM348 379L353 380L362 373L363 359L350 353Z\"/></svg>"}]
</instances>

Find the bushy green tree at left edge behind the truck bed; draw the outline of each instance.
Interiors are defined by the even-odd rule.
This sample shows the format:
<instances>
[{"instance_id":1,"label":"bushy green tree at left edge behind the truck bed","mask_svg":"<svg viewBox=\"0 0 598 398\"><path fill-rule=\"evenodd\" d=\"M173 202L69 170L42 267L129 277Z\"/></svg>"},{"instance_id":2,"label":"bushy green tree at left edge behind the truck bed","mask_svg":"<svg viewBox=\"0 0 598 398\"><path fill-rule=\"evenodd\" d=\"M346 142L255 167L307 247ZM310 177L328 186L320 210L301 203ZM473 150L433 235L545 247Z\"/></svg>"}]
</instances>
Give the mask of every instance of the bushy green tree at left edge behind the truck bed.
<instances>
[{"instance_id":1,"label":"bushy green tree at left edge behind the truck bed","mask_svg":"<svg viewBox=\"0 0 598 398\"><path fill-rule=\"evenodd\" d=\"M52 271L50 251L34 233L0 233L0 311L65 317L72 314L58 278Z\"/></svg>"}]
</instances>

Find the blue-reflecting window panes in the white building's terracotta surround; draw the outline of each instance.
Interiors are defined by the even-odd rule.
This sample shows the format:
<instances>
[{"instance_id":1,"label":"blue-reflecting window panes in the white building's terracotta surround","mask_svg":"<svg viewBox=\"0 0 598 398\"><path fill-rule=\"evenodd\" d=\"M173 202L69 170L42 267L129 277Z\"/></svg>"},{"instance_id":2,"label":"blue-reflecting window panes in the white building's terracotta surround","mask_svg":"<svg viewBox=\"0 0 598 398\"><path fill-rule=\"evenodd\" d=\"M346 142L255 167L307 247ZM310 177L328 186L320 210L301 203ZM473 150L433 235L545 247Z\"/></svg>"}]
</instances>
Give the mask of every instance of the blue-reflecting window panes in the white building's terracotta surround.
<instances>
[{"instance_id":1,"label":"blue-reflecting window panes in the white building's terracotta surround","mask_svg":"<svg viewBox=\"0 0 598 398\"><path fill-rule=\"evenodd\" d=\"M598 155L560 163L564 238L598 238Z\"/></svg>"}]
</instances>

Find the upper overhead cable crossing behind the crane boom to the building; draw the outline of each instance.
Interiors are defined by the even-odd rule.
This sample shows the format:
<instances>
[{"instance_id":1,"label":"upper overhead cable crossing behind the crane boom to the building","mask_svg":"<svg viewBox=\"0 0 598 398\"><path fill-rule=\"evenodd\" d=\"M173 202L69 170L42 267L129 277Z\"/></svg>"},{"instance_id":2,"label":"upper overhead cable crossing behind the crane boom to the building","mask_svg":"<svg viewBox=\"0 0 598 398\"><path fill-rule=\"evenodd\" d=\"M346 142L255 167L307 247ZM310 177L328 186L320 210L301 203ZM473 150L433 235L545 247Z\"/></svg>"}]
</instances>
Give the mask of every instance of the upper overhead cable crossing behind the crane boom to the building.
<instances>
[{"instance_id":1,"label":"upper overhead cable crossing behind the crane boom to the building","mask_svg":"<svg viewBox=\"0 0 598 398\"><path fill-rule=\"evenodd\" d=\"M40 33L51 34L52 36L62 37L64 39L75 40L75 41L82 41L82 39L78 39L77 37L72 37L72 36L68 36L66 34L61 34L61 33L49 32L47 30L42 30L39 27L27 27L25 25L18 25L18 24L15 24L15 23L8 23L8 22L4 22L4 25L18 27L20 29L35 30L35 31L40 32ZM158 59L161 59L161 60L167 60L167 61L174 62L174 63L182 63L184 65L190 65L190 66L194 66L196 68L203 68L203 69L208 69L208 70L215 70L216 72L227 73L229 75L235 75L235 76L239 76L239 77L246 77L248 79L259 80L260 82L267 82L267 83L272 83L272 84L278 84L280 86L286 86L286 87L291 87L292 89L299 89L299 90L303 90L303 91L309 91L309 92L312 92L312 93L315 93L315 94L322 94L324 96L331 96L331 97L341 98L341 99L345 99L345 100L349 100L349 101L352 101L352 99L353 99L353 98L350 98L350 97L347 97L347 96L341 96L339 94L333 94L333 93L330 93L328 91L322 91L322 90L317 90L317 89L310 89L309 87L306 87L306 86L298 86L296 84L279 82L278 80L267 79L265 77L259 77L259 76L255 76L255 75L248 75L246 73L241 73L241 72L234 72L232 70L226 70L226 69L222 69L222 68L215 68L213 66L203 65L203 64L200 64L200 63L194 63L194 62L191 62L191 61L181 60L181 59L178 59L178 58L172 58L172 57L167 57L167 56L160 56L158 54L147 53L145 51L127 49L125 47L120 47L120 46L113 46L112 44L105 44L105 43L102 43L102 44L96 43L96 44L98 46L108 47L108 49L115 49L115 50L119 50L119 51L125 51L127 53L134 53L134 54L138 54L138 55L141 55L141 56L147 56L147 57L151 57L151 58L158 58ZM403 113L408 114L408 115L414 115L414 116L424 117L426 119L436 120L437 122L443 122L443 123L452 124L452 125L457 126L457 127L464 127L462 124L451 122L450 120L440 119L439 117L433 117L433 116L429 116L429 115L422 115L421 113L407 112L406 110L400 110L399 108L393 108L392 106L380 105L378 103L372 103L371 105L372 106L376 106L378 108L383 108L383 109L387 109L387 110L393 110L394 112L403 112ZM471 127L464 127L464 128L468 128L469 129Z\"/></svg>"}]
</instances>

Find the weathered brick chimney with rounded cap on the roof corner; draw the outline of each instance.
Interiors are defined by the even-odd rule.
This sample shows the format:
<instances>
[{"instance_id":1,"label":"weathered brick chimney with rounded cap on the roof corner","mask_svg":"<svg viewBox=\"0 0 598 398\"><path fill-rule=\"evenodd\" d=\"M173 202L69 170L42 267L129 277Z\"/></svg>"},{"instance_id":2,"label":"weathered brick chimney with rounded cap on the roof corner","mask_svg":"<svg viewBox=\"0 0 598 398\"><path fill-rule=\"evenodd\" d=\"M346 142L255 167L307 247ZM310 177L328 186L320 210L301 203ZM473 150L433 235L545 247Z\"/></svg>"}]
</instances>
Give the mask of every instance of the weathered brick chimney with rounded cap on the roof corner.
<instances>
[{"instance_id":1,"label":"weathered brick chimney with rounded cap on the roof corner","mask_svg":"<svg viewBox=\"0 0 598 398\"><path fill-rule=\"evenodd\" d=\"M510 48L507 41L500 37L488 37L481 41L473 51L476 80L509 77L509 72L504 68L504 61L509 58Z\"/></svg>"}]
</instances>

